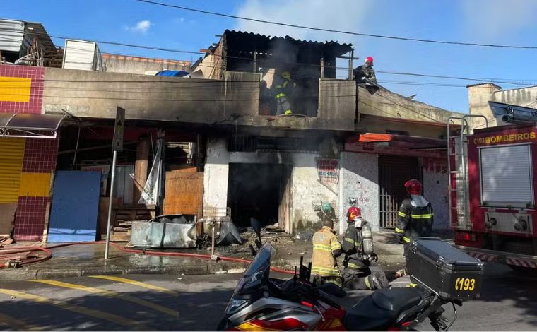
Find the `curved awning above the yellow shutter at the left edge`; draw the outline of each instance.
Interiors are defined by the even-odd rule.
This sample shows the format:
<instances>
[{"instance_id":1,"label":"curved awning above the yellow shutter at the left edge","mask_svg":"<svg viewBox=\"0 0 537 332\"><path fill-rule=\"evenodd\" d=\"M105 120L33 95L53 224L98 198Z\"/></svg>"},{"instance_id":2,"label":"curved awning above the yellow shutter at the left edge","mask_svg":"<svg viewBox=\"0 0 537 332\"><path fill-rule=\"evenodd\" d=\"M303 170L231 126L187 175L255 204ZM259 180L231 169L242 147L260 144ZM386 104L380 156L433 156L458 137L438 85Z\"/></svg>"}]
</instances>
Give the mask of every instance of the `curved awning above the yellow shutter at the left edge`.
<instances>
[{"instance_id":1,"label":"curved awning above the yellow shutter at the left edge","mask_svg":"<svg viewBox=\"0 0 537 332\"><path fill-rule=\"evenodd\" d=\"M66 114L0 113L0 137L56 138Z\"/></svg>"}]
</instances>

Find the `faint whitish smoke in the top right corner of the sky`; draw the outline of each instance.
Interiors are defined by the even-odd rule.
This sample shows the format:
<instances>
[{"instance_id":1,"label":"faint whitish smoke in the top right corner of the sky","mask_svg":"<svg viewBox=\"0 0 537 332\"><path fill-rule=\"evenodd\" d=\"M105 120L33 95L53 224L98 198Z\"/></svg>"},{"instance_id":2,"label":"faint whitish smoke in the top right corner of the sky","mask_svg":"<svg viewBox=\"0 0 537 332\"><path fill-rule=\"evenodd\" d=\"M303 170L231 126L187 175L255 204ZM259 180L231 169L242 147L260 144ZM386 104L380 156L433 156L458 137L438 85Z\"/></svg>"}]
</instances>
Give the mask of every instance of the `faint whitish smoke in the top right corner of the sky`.
<instances>
[{"instance_id":1,"label":"faint whitish smoke in the top right corner of the sky","mask_svg":"<svg viewBox=\"0 0 537 332\"><path fill-rule=\"evenodd\" d=\"M468 30L476 38L497 38L515 35L533 25L537 1L472 0L461 2Z\"/></svg>"}]
</instances>

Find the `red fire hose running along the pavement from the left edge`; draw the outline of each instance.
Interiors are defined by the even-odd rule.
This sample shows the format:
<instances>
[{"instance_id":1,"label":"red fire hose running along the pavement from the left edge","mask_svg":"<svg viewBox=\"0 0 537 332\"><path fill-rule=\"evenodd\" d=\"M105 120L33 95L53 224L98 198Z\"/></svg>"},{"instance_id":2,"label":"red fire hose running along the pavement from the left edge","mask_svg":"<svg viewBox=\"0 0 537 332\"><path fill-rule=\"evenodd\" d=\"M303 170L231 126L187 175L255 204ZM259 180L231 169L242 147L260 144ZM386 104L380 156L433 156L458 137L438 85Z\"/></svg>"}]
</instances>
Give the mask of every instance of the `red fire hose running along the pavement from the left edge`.
<instances>
[{"instance_id":1,"label":"red fire hose running along the pavement from the left edge","mask_svg":"<svg viewBox=\"0 0 537 332\"><path fill-rule=\"evenodd\" d=\"M1 243L0 239L0 243ZM50 247L0 247L0 259L7 259L6 263L0 263L0 268L18 268L21 266L26 266L32 263L39 263L42 261L47 261L47 259L52 258L52 251L50 249L57 249L61 247L69 247L69 246L75 246L75 245L84 245L84 244L105 244L104 241L95 241L95 242L70 242L70 243L64 243L64 244L56 244ZM121 250L124 252L128 252L131 254L144 254L148 256L170 256L170 257L190 257L190 258L196 258L196 259L206 259L206 260L212 260L211 255L204 255L204 254L189 254L184 252L165 252L165 251L154 251L154 250L140 250L140 249L130 249L120 246L117 243L110 242L110 245ZM40 257L38 254L32 254L35 251L43 251L45 252L45 256ZM14 257L10 258L9 256L5 255L12 255L12 254L23 254L28 253L25 257ZM238 263L245 263L249 264L250 261L248 259L237 259L234 257L226 257L226 256L218 256L218 260L220 261L234 261ZM271 268L271 271L274 272L280 272L280 273L288 273L288 274L295 274L293 271L283 270L281 268Z\"/></svg>"}]
</instances>

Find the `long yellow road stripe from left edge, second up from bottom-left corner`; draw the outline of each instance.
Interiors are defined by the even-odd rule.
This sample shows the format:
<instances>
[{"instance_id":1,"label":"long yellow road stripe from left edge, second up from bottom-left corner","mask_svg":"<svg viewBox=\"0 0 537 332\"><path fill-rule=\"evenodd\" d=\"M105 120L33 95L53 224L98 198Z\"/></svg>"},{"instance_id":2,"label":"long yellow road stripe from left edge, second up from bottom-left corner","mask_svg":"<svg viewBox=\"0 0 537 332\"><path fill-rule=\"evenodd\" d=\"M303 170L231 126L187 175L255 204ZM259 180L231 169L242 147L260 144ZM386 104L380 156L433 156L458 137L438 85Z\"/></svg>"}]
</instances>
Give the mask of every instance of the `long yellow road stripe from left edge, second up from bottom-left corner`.
<instances>
[{"instance_id":1,"label":"long yellow road stripe from left edge, second up from bottom-left corner","mask_svg":"<svg viewBox=\"0 0 537 332\"><path fill-rule=\"evenodd\" d=\"M48 299L47 297L33 295L30 293L25 293L25 292L17 292L16 290L7 290L4 288L0 288L0 293L6 294L6 295L12 295L15 297L20 297L21 299L30 300L33 302L50 304L50 305L59 307L61 309L69 310L71 312L76 312L78 314L83 314L85 316L92 316L97 319L111 321L114 324L119 324L122 326L129 326L130 328L133 328L134 330L137 330L137 331L153 331L153 328L148 328L147 326L138 324L136 321L132 319L126 319L122 316L109 314L107 312L101 312L99 310L90 309L88 307L82 307L76 304L70 304L67 302L60 301L60 300L52 300L52 299Z\"/></svg>"}]
</instances>

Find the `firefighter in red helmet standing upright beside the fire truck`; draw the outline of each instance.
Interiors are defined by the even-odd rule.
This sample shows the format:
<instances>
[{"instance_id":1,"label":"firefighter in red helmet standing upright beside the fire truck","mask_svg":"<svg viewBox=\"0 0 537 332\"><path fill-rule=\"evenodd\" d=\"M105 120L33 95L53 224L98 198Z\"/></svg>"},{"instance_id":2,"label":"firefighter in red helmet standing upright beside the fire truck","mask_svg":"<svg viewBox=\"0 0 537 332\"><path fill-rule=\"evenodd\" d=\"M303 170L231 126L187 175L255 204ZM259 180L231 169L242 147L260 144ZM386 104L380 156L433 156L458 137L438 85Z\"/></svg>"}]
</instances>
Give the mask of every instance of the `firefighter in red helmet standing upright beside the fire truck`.
<instances>
[{"instance_id":1,"label":"firefighter in red helmet standing upright beside the fire truck","mask_svg":"<svg viewBox=\"0 0 537 332\"><path fill-rule=\"evenodd\" d=\"M405 182L405 188L410 198L406 198L399 208L399 218L395 234L399 243L404 245L404 255L408 251L408 244L413 237L430 237L434 213L432 206L427 199L422 196L423 186L417 179L410 179ZM406 269L396 273L396 277L406 275Z\"/></svg>"}]
</instances>

